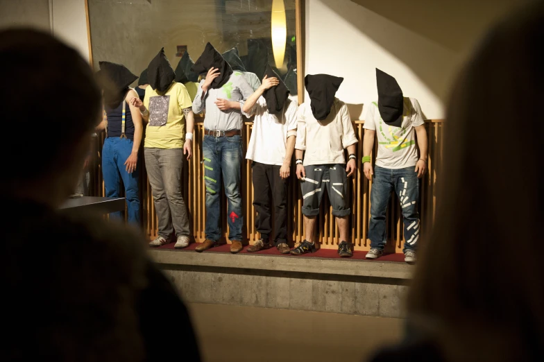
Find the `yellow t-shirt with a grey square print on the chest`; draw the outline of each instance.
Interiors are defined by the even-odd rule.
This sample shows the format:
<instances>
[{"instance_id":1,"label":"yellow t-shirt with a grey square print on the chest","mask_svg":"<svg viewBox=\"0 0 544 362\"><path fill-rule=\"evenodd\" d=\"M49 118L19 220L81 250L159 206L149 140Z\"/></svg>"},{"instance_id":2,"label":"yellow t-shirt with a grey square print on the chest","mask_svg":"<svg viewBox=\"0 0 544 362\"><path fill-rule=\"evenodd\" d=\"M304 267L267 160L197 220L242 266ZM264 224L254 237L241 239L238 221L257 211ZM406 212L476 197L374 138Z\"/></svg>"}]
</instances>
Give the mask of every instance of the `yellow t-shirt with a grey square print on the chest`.
<instances>
[{"instance_id":1,"label":"yellow t-shirt with a grey square print on the chest","mask_svg":"<svg viewBox=\"0 0 544 362\"><path fill-rule=\"evenodd\" d=\"M185 85L172 83L164 94L147 87L144 105L149 110L144 147L183 148L183 110L193 105Z\"/></svg>"}]
</instances>

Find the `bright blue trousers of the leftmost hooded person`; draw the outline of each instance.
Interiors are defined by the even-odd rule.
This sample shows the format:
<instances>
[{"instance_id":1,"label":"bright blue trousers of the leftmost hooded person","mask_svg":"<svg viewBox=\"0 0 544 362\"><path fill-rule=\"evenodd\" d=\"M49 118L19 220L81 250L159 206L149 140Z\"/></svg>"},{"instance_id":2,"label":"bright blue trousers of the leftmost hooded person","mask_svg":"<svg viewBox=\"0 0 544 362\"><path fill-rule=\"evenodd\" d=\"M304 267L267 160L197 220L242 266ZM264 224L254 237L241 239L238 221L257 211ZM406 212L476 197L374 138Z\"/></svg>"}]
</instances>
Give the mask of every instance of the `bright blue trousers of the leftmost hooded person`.
<instances>
[{"instance_id":1,"label":"bright blue trousers of the leftmost hooded person","mask_svg":"<svg viewBox=\"0 0 544 362\"><path fill-rule=\"evenodd\" d=\"M102 175L104 178L105 196L118 198L121 189L120 180L125 186L128 222L139 224L138 168L133 173L126 172L125 162L133 151L133 141L126 138L108 137L102 148ZM121 212L110 214L113 218L121 218Z\"/></svg>"}]
</instances>

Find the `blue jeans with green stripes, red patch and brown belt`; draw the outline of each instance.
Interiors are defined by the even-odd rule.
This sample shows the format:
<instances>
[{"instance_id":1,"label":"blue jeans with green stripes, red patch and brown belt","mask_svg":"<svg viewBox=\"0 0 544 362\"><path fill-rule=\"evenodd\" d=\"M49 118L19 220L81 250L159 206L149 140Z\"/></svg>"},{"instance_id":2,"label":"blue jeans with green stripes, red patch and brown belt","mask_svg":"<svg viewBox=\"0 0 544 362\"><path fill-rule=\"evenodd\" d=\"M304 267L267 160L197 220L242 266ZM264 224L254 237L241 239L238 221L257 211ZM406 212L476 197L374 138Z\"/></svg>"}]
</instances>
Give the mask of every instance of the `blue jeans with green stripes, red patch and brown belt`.
<instances>
[{"instance_id":1,"label":"blue jeans with green stripes, red patch and brown belt","mask_svg":"<svg viewBox=\"0 0 544 362\"><path fill-rule=\"evenodd\" d=\"M244 215L241 210L240 166L242 160L241 136L204 136L204 180L206 185L206 239L221 238L221 178L228 201L227 221L230 241L241 241Z\"/></svg>"}]
</instances>

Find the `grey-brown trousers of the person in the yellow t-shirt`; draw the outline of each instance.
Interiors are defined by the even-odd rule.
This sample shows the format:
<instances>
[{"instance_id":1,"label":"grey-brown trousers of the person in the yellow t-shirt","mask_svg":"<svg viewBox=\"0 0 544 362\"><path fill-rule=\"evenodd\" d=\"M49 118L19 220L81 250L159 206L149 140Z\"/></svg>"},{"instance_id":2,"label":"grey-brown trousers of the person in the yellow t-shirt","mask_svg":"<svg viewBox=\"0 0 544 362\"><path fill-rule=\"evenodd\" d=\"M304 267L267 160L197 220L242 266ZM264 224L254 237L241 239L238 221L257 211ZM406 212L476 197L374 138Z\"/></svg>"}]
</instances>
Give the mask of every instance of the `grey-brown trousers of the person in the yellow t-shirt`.
<instances>
[{"instance_id":1,"label":"grey-brown trousers of the person in the yellow t-shirt","mask_svg":"<svg viewBox=\"0 0 544 362\"><path fill-rule=\"evenodd\" d=\"M168 239L175 231L176 236L189 236L189 217L181 189L182 148L144 148L144 155L159 235Z\"/></svg>"}]
</instances>

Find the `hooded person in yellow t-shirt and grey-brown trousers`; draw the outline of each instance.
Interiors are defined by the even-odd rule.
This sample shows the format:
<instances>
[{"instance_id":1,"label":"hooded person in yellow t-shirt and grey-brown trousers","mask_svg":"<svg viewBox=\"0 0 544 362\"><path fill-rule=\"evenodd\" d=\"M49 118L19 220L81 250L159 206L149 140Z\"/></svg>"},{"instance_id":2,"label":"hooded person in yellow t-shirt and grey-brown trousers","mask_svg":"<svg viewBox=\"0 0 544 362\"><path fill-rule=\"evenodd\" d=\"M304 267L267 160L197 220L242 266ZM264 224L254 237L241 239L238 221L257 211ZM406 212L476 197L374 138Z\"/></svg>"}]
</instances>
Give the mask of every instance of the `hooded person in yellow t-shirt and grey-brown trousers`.
<instances>
[{"instance_id":1,"label":"hooded person in yellow t-shirt and grey-brown trousers","mask_svg":"<svg viewBox=\"0 0 544 362\"><path fill-rule=\"evenodd\" d=\"M191 231L181 177L183 155L187 155L187 160L192 155L191 97L185 85L176 83L176 74L164 55L164 48L151 60L147 72L149 87L144 101L133 98L133 104L148 122L144 157L159 221L158 236L149 245L158 247L176 239L174 248L187 248Z\"/></svg>"}]
</instances>

